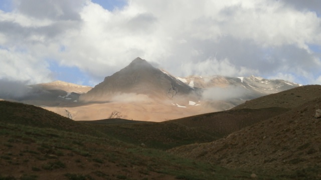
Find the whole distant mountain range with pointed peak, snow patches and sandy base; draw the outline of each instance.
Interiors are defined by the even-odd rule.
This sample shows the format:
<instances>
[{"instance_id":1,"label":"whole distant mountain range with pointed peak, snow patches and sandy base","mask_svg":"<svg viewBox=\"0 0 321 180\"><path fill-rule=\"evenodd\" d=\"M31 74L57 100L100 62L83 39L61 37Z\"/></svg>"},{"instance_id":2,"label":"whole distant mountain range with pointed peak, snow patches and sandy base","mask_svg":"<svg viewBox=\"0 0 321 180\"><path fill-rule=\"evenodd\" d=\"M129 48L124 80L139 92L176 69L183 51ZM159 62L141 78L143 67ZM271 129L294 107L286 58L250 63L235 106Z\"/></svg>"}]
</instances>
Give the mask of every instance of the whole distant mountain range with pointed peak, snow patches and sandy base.
<instances>
[{"instance_id":1,"label":"whole distant mountain range with pointed peak, snow patches and sandy base","mask_svg":"<svg viewBox=\"0 0 321 180\"><path fill-rule=\"evenodd\" d=\"M42 106L75 120L164 121L230 109L246 100L297 86L253 75L178 77L137 57L93 88L54 81L29 85L24 96L9 100Z\"/></svg>"}]
</instances>

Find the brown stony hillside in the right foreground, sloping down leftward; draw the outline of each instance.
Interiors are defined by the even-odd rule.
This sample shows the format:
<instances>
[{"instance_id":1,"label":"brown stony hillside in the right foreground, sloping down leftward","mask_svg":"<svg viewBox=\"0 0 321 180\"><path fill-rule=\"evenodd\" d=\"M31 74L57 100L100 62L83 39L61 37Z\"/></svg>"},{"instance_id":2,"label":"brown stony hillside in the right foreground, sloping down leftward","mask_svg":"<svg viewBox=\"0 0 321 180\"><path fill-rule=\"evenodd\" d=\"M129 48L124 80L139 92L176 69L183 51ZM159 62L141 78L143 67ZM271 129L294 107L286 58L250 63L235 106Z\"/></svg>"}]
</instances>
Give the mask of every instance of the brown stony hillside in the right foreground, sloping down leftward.
<instances>
[{"instance_id":1,"label":"brown stony hillside in the right foreground, sloping down leftward","mask_svg":"<svg viewBox=\"0 0 321 180\"><path fill-rule=\"evenodd\" d=\"M296 90L302 94L315 90L314 87L317 86ZM272 101L276 99L270 99ZM315 118L314 114L320 108L321 98L306 100L281 115L231 133L226 138L170 151L227 167L291 174L294 179L319 179L321 119Z\"/></svg>"}]
</instances>

